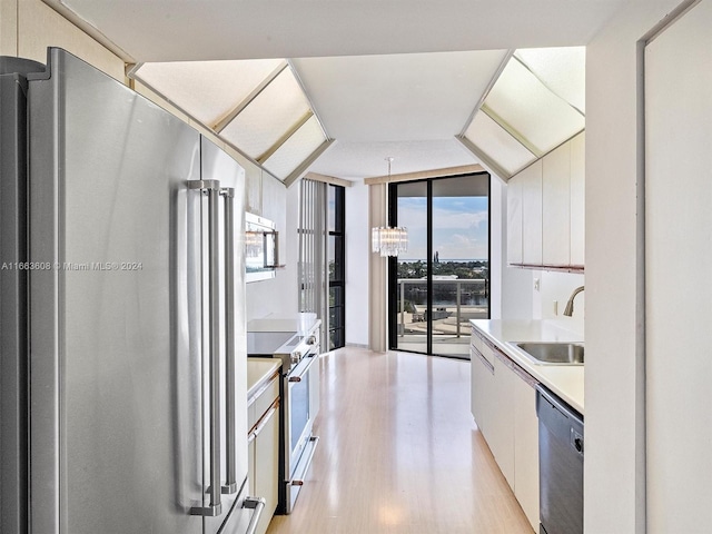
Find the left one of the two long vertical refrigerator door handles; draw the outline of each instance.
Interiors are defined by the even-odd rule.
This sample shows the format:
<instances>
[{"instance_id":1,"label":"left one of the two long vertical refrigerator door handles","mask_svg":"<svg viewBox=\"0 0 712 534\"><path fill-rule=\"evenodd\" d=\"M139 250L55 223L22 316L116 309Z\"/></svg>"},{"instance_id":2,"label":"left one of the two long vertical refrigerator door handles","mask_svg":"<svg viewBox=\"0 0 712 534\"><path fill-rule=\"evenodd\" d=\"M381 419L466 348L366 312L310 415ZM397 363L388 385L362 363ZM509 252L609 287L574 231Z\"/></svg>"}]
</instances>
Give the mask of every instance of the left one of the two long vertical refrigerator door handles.
<instances>
[{"instance_id":1,"label":"left one of the two long vertical refrigerator door handles","mask_svg":"<svg viewBox=\"0 0 712 534\"><path fill-rule=\"evenodd\" d=\"M208 196L208 314L209 314L209 407L210 407L210 503L194 506L191 515L215 517L222 513L220 503L220 265L218 244L218 180L189 180L189 189Z\"/></svg>"}]
</instances>

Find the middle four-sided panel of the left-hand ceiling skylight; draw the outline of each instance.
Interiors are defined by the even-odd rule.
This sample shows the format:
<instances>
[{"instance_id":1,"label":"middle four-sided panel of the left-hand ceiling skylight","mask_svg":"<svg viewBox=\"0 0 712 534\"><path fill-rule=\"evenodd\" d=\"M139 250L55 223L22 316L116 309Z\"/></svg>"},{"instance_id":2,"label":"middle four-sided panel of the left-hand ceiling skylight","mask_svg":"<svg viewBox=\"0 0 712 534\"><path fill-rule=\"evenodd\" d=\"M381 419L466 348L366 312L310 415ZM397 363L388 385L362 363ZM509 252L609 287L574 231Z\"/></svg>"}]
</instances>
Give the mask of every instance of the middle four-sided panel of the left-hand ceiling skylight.
<instances>
[{"instance_id":1,"label":"middle four-sided panel of the left-hand ceiling skylight","mask_svg":"<svg viewBox=\"0 0 712 534\"><path fill-rule=\"evenodd\" d=\"M290 69L283 70L220 132L251 158L259 160L309 113L310 107Z\"/></svg>"}]
</instances>

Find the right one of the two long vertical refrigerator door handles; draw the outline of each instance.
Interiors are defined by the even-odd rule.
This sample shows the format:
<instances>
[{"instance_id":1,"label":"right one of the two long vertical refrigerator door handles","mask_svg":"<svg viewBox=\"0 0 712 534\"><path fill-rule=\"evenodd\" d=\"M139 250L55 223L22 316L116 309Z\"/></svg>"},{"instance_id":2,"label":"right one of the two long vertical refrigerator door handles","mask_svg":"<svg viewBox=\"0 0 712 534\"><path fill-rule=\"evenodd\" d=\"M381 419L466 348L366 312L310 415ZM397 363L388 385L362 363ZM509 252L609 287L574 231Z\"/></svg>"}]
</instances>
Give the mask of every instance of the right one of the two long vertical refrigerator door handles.
<instances>
[{"instance_id":1,"label":"right one of the two long vertical refrigerator door handles","mask_svg":"<svg viewBox=\"0 0 712 534\"><path fill-rule=\"evenodd\" d=\"M227 432L226 467L227 481L222 493L237 493L237 452L235 445L235 189L224 187L220 195L225 198L225 428Z\"/></svg>"}]
</instances>

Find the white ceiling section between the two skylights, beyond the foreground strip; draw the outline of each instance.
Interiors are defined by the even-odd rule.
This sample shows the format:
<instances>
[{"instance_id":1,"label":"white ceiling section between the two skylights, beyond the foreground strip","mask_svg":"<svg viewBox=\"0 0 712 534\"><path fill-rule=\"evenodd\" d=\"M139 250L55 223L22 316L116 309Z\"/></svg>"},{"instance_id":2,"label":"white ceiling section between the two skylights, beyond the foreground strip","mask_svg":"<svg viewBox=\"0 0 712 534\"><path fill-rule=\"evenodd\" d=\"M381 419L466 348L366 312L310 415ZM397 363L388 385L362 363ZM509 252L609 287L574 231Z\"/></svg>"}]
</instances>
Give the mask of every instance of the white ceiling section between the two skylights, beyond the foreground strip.
<instances>
[{"instance_id":1,"label":"white ceiling section between the two skylights, beyond the foreground strip","mask_svg":"<svg viewBox=\"0 0 712 534\"><path fill-rule=\"evenodd\" d=\"M339 142L447 139L459 132L506 50L294 59Z\"/></svg>"}]
</instances>

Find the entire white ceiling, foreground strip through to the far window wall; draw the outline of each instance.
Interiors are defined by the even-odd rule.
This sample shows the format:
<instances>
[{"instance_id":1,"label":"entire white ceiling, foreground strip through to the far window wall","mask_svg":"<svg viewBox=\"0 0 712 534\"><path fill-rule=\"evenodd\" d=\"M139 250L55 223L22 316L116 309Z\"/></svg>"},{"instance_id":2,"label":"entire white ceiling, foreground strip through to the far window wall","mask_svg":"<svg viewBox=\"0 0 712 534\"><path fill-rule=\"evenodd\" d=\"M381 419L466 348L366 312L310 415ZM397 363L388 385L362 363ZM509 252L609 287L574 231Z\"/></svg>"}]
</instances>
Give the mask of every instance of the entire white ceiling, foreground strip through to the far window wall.
<instances>
[{"instance_id":1,"label":"entire white ceiling, foreground strip through to the far window wall","mask_svg":"<svg viewBox=\"0 0 712 534\"><path fill-rule=\"evenodd\" d=\"M44 1L127 61L290 59L337 141L309 170L358 179L477 162L454 136L506 50L586 44L632 0Z\"/></svg>"}]
</instances>

